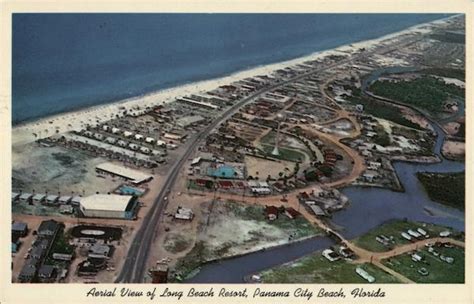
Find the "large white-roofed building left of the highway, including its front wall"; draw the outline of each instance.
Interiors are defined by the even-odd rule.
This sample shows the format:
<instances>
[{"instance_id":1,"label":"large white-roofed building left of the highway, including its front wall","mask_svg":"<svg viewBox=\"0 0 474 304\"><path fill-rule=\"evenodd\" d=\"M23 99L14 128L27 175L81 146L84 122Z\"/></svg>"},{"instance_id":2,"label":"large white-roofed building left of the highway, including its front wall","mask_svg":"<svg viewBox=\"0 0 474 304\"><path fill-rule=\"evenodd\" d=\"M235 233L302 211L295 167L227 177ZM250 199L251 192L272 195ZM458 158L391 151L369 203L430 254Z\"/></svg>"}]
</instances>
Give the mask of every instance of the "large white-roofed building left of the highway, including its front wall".
<instances>
[{"instance_id":1,"label":"large white-roofed building left of the highway, including its front wall","mask_svg":"<svg viewBox=\"0 0 474 304\"><path fill-rule=\"evenodd\" d=\"M133 219L138 207L131 195L95 194L82 198L80 210L85 217Z\"/></svg>"}]
</instances>

